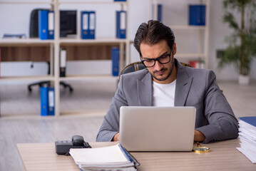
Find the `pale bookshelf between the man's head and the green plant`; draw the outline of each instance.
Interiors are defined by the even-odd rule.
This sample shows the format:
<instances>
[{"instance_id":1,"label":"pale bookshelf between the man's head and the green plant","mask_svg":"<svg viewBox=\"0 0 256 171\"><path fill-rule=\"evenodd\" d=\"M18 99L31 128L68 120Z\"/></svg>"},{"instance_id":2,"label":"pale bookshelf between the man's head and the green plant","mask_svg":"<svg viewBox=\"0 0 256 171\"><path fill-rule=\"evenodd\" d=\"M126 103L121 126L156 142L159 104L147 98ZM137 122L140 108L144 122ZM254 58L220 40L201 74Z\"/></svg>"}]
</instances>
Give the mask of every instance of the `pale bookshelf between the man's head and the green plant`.
<instances>
[{"instance_id":1,"label":"pale bookshelf between the man's head and the green plant","mask_svg":"<svg viewBox=\"0 0 256 171\"><path fill-rule=\"evenodd\" d=\"M178 52L176 53L175 57L178 58L179 60L200 60L204 61L205 66L204 68L208 68L208 42L209 42L209 15L210 15L210 0L196 0L196 1L189 1L189 0L183 0L183 1L175 1L175 0L170 0L170 1L163 1L163 0L150 0L150 18L157 19L157 14L158 14L158 8L157 4L163 4L163 8L165 8L165 4L172 4L173 8L168 9L169 11L177 11L175 9L176 6L179 5L185 5L188 6L189 4L205 4L206 6L206 11L205 11L205 26L191 26L188 25L188 21L186 22L187 24L168 24L170 28L175 33L175 37L179 38L180 36L183 36L182 33L185 32L197 32L198 38L195 40L195 43L198 43L198 49L196 52ZM168 8L168 7L166 7ZM183 16L187 11L183 11ZM165 18L165 13L164 10L162 9L163 13L163 18ZM172 16L168 16L169 18L172 18ZM187 17L188 18L188 17ZM175 20L175 18L174 18ZM188 20L188 19L187 19ZM166 23L165 23L166 24ZM184 41L180 41L180 43L184 43ZM179 46L178 44L178 46ZM178 47L179 48L179 47Z\"/></svg>"}]
</instances>

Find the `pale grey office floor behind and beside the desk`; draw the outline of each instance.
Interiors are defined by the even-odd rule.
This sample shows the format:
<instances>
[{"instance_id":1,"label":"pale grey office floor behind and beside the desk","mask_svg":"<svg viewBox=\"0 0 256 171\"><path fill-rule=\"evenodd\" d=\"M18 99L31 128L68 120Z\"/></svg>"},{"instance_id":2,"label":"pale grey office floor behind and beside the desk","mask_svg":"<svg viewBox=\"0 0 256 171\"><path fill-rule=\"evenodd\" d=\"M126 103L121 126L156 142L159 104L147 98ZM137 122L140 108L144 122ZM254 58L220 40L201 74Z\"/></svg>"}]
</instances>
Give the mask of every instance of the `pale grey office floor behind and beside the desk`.
<instances>
[{"instance_id":1,"label":"pale grey office floor behind and beside the desk","mask_svg":"<svg viewBox=\"0 0 256 171\"><path fill-rule=\"evenodd\" d=\"M71 82L73 93L61 90L61 110L91 110L93 115L63 115L60 118L41 117L39 88L28 93L26 84L0 87L0 170L22 170L16 143L54 142L82 135L95 141L116 90L116 81ZM220 82L236 117L256 115L256 81L250 86L237 82Z\"/></svg>"}]
</instances>

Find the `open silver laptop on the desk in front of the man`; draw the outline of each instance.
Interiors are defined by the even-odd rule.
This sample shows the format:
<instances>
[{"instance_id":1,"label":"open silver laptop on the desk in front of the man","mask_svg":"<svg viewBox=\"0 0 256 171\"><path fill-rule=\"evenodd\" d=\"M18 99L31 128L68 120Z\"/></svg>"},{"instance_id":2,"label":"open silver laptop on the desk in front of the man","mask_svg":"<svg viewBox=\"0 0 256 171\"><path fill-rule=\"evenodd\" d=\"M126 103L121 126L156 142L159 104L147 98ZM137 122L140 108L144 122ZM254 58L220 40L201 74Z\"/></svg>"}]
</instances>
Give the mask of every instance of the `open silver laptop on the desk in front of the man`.
<instances>
[{"instance_id":1,"label":"open silver laptop on the desk in front of the man","mask_svg":"<svg viewBox=\"0 0 256 171\"><path fill-rule=\"evenodd\" d=\"M191 151L195 107L122 106L119 141L128 151Z\"/></svg>"}]
</instances>

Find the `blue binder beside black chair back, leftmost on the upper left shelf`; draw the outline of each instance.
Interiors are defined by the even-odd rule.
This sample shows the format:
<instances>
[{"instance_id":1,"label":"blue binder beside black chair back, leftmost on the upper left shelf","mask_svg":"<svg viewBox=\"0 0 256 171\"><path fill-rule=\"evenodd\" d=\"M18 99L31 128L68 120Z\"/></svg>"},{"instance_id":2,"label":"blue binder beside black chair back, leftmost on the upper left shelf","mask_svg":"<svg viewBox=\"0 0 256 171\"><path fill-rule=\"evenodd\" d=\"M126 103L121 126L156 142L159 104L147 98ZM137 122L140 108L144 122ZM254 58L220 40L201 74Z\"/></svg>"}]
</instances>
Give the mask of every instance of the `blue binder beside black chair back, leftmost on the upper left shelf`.
<instances>
[{"instance_id":1,"label":"blue binder beside black chair back, leftmost on the upper left shelf","mask_svg":"<svg viewBox=\"0 0 256 171\"><path fill-rule=\"evenodd\" d=\"M48 11L39 11L39 38L46 40L48 37Z\"/></svg>"}]
</instances>

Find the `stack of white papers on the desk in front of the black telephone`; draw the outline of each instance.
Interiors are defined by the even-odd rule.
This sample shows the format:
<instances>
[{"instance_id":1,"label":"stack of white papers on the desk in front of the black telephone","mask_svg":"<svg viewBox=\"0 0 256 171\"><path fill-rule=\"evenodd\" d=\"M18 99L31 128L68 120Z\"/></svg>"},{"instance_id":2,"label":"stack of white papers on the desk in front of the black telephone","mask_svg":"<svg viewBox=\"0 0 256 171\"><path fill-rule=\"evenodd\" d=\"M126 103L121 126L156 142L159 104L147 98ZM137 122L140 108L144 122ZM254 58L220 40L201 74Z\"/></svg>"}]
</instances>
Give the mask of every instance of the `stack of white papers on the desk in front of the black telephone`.
<instances>
[{"instance_id":1,"label":"stack of white papers on the desk in front of the black telephone","mask_svg":"<svg viewBox=\"0 0 256 171\"><path fill-rule=\"evenodd\" d=\"M123 147L71 148L70 155L81 170L137 170Z\"/></svg>"}]
</instances>

